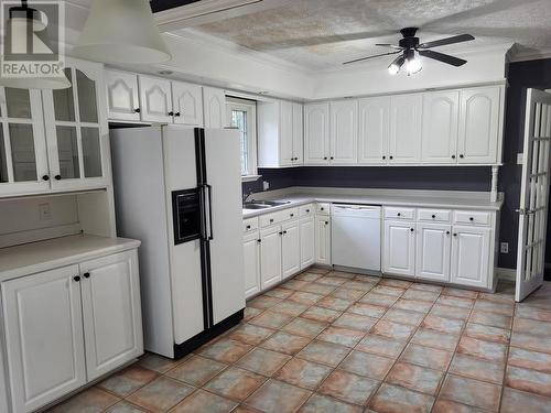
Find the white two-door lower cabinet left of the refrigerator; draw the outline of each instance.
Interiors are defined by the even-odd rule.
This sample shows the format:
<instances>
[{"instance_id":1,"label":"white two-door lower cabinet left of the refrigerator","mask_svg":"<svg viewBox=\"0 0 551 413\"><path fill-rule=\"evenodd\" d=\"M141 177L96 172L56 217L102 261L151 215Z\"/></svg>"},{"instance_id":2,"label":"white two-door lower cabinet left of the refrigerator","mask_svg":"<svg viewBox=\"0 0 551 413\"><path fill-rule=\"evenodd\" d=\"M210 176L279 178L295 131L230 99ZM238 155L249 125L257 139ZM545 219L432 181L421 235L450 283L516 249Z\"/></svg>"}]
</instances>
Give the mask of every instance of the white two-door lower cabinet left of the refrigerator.
<instances>
[{"instance_id":1,"label":"white two-door lower cabinet left of the refrigerator","mask_svg":"<svg viewBox=\"0 0 551 413\"><path fill-rule=\"evenodd\" d=\"M13 413L35 411L143 352L136 250L1 289Z\"/></svg>"}]
</instances>

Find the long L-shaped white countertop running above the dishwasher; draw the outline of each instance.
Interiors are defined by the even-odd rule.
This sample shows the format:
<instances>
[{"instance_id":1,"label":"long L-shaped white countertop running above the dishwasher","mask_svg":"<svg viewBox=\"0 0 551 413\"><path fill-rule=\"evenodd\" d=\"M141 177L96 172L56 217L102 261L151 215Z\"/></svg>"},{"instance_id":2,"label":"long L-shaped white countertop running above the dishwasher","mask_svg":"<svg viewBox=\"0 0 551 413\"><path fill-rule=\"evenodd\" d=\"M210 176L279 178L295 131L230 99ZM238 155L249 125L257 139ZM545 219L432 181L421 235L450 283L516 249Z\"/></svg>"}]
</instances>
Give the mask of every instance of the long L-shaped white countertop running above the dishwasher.
<instances>
[{"instance_id":1,"label":"long L-shaped white countertop running above the dishwasher","mask_svg":"<svg viewBox=\"0 0 551 413\"><path fill-rule=\"evenodd\" d=\"M256 200L285 202L285 205L264 209L244 209L244 218L252 218L267 213L310 204L338 203L382 206L408 206L419 208L449 208L499 210L503 195L495 203L488 193L453 191L401 191L401 189L346 189L346 188L290 188L253 194ZM249 199L250 202L250 199Z\"/></svg>"}]
</instances>

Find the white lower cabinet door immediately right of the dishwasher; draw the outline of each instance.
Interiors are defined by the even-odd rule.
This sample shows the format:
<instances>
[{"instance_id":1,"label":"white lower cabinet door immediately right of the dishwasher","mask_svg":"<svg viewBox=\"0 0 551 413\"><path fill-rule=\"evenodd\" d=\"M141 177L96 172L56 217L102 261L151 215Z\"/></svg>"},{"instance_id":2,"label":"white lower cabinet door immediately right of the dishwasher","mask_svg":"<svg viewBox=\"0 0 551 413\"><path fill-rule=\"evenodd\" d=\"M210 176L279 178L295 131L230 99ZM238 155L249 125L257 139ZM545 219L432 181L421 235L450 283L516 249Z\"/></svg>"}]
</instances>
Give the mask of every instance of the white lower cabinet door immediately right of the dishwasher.
<instances>
[{"instance_id":1,"label":"white lower cabinet door immediately right of the dishwasher","mask_svg":"<svg viewBox=\"0 0 551 413\"><path fill-rule=\"evenodd\" d=\"M415 229L413 222L385 221L382 271L389 274L415 274Z\"/></svg>"}]
</instances>

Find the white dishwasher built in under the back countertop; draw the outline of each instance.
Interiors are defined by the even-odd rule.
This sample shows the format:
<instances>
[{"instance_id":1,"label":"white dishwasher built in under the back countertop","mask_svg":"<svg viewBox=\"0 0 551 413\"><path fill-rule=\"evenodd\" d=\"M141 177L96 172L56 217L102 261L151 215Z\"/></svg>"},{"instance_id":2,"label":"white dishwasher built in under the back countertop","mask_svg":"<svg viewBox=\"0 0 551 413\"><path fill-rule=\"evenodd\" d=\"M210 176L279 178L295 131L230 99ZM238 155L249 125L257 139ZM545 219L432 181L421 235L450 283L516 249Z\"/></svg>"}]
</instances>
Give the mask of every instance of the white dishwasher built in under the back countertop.
<instances>
[{"instance_id":1,"label":"white dishwasher built in under the back countertop","mask_svg":"<svg viewBox=\"0 0 551 413\"><path fill-rule=\"evenodd\" d=\"M333 265L380 272L381 207L333 204Z\"/></svg>"}]
</instances>

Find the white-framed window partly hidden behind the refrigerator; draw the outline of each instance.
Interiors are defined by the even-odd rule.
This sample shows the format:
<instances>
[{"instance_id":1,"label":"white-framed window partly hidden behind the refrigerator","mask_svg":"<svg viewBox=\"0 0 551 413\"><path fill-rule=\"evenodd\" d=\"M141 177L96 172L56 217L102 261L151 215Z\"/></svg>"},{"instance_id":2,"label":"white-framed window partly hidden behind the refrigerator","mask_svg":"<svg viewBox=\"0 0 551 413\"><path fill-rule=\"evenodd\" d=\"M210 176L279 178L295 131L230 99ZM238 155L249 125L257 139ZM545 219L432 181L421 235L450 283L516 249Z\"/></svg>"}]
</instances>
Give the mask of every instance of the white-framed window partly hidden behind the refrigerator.
<instances>
[{"instance_id":1,"label":"white-framed window partly hidden behind the refrigerator","mask_svg":"<svg viewBox=\"0 0 551 413\"><path fill-rule=\"evenodd\" d=\"M241 132L241 176L257 178L257 102L238 98L226 101L230 127Z\"/></svg>"}]
</instances>

